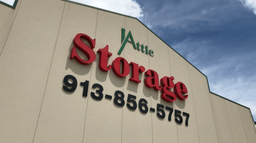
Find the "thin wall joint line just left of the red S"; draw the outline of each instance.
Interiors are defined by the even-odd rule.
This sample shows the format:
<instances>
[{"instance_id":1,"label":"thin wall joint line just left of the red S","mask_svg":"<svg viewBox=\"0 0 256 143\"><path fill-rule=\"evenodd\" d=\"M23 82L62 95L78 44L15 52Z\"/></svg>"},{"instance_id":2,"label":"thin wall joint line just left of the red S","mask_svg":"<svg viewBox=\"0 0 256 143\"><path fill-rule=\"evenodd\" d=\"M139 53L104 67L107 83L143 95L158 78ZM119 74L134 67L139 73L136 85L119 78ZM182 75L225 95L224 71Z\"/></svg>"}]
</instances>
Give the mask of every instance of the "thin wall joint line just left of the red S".
<instances>
[{"instance_id":1,"label":"thin wall joint line just left of the red S","mask_svg":"<svg viewBox=\"0 0 256 143\"><path fill-rule=\"evenodd\" d=\"M64 8L63 8L63 12L62 12L61 20L60 20L60 26L61 26L61 22L62 22L62 17L63 17L63 13L64 13L65 6L66 6L66 2L64 3ZM57 44L57 41L58 41L59 32L60 32L60 27L59 27L58 35L57 35L57 38L56 38L56 43L55 43L54 51L53 51L53 54L52 54L52 60L53 60L53 56L54 56L54 52L55 52L55 48L56 48L56 44ZM44 95L45 95L45 91L46 91L46 87L47 87L47 83L48 83L48 79L49 79L49 75L50 75L51 67L52 67L52 61L51 61L51 65L50 65L50 69L49 69L49 73L48 73L48 77L47 77L46 85L45 85L45 88L44 88ZM40 118L40 113L41 113L41 109L42 109L43 101L44 101L44 96L43 96L43 99L42 99L42 104L41 104L41 108L40 108L40 111L39 111L38 120L37 120L37 123L36 123L36 129L37 129L38 121L39 121L39 118ZM36 130L35 130L35 134L34 134L33 142L34 142L35 136L36 136Z\"/></svg>"}]
</instances>

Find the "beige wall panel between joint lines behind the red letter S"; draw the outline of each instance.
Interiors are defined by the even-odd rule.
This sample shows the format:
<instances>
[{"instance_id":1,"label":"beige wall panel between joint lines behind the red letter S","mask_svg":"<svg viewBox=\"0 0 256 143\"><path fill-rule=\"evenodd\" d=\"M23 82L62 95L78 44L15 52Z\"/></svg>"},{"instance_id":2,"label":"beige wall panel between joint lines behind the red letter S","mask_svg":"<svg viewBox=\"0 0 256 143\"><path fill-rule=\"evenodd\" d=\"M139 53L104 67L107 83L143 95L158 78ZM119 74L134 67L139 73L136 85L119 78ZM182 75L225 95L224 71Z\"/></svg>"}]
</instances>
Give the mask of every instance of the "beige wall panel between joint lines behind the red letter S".
<instances>
[{"instance_id":1,"label":"beige wall panel between joint lines behind the red letter S","mask_svg":"<svg viewBox=\"0 0 256 143\"><path fill-rule=\"evenodd\" d=\"M97 14L98 10L65 3L35 143L83 140L88 97L82 98L83 88L80 82L90 80L92 66L81 66L75 59L70 60L70 52L74 47L73 39L76 34L86 33L92 39L95 38ZM62 88L63 78L68 74L75 76L78 82L74 93L68 93Z\"/></svg>"}]
</instances>

